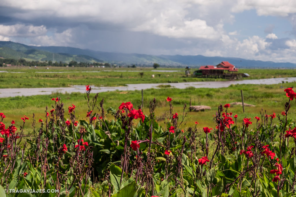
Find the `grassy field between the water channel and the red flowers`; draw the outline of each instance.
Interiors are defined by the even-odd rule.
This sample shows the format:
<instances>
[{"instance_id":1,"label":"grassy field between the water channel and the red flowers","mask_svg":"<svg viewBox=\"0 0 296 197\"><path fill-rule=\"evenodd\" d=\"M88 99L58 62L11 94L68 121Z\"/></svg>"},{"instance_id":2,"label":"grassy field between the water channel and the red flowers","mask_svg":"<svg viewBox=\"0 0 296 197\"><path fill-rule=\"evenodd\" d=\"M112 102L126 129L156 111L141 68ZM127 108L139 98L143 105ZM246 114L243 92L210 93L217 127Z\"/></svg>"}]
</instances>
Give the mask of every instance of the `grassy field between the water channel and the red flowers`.
<instances>
[{"instance_id":1,"label":"grassy field between the water channel and the red flowers","mask_svg":"<svg viewBox=\"0 0 296 197\"><path fill-rule=\"evenodd\" d=\"M240 102L241 93L243 90L244 102L248 104L256 105L255 107L245 107L245 113L242 112L242 106L231 106L228 112L232 112L233 115L238 115L238 121L242 122L245 117L251 118L251 121L255 123L255 116L260 116L260 111L263 108L263 113L268 115L275 112L280 114L284 110L284 104L288 101L288 98L284 94L284 89L287 87L295 86L295 83L274 84L274 85L232 85L227 88L211 89L211 88L193 88L186 89L176 88L161 88L161 89L147 89L144 90L144 114L149 113L149 101L154 97L157 101L156 119L160 123L164 123L169 114L169 104L166 98L169 96L173 99L173 113L177 112L179 116L182 114L183 105L186 103L188 115L186 117L186 127L194 126L194 122L198 121L200 124L198 128L204 126L215 126L213 115L216 113L218 106L221 104ZM94 95L94 94L91 94ZM17 125L21 125L21 117L26 115L32 118L32 114L35 114L36 120L39 118L45 118L45 107L48 106L49 110L54 105L52 97L59 96L64 102L65 108L71 104L76 105L75 114L80 116L81 119L86 118L86 101L85 94L71 93L71 94L53 94L53 95L38 95L30 97L10 97L0 98L0 112L4 113L8 118L4 119L5 124L9 124L13 119ZM98 100L104 98L104 108L107 112L107 108L119 106L121 102L132 102L134 107L137 108L141 105L141 91L114 91L99 93ZM205 112L189 112L189 102L192 100L192 105L208 105L212 109ZM292 101L294 102L294 101ZM99 106L98 106L99 108ZM48 111L49 111L48 110ZM100 113L98 109L95 111ZM164 113L166 112L166 113ZM67 114L67 111L65 112ZM68 117L68 115L65 115ZM111 115L108 115L111 118ZM296 114L289 114L290 118L295 118ZM273 120L277 122L277 118ZM251 128L254 128L256 124L253 124ZM30 129L30 125L27 124L27 130Z\"/></svg>"}]
</instances>

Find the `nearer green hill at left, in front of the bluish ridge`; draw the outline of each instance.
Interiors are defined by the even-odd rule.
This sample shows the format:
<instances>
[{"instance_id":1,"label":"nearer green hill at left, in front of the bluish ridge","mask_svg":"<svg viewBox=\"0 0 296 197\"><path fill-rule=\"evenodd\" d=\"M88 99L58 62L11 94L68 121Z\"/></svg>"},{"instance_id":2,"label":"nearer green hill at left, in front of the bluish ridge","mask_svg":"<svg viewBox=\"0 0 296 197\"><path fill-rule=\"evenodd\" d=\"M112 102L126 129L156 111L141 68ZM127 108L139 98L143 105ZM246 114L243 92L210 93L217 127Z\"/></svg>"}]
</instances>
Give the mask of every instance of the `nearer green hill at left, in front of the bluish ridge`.
<instances>
[{"instance_id":1,"label":"nearer green hill at left, in front of the bluish ridge","mask_svg":"<svg viewBox=\"0 0 296 197\"><path fill-rule=\"evenodd\" d=\"M12 59L24 58L27 61L52 61L54 59L54 61L62 61L66 63L69 63L72 60L88 63L103 62L102 60L87 55L54 53L45 50L38 50L37 48L32 46L10 41L0 41L0 57Z\"/></svg>"}]
</instances>

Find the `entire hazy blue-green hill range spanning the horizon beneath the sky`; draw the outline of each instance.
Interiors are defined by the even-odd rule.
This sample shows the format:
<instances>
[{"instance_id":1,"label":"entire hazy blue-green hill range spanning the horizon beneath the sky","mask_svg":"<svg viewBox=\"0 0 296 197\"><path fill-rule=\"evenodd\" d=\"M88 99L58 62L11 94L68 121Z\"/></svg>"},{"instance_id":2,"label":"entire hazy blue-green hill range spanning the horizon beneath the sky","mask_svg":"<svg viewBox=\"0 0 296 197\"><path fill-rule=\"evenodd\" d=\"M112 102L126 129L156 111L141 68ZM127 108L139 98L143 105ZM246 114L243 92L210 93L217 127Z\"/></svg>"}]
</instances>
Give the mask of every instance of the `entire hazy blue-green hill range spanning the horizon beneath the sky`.
<instances>
[{"instance_id":1,"label":"entire hazy blue-green hill range spanning the horizon beneath the sky","mask_svg":"<svg viewBox=\"0 0 296 197\"><path fill-rule=\"evenodd\" d=\"M115 64L152 65L158 63L161 66L192 66L217 65L221 61L229 61L239 68L295 68L295 63L248 60L233 57L206 57L181 56L181 55L145 55L138 53L111 53L80 49L74 47L59 46L28 46L20 43L0 41L0 56L4 58L25 58L27 60L53 60L69 62L109 62Z\"/></svg>"}]
</instances>

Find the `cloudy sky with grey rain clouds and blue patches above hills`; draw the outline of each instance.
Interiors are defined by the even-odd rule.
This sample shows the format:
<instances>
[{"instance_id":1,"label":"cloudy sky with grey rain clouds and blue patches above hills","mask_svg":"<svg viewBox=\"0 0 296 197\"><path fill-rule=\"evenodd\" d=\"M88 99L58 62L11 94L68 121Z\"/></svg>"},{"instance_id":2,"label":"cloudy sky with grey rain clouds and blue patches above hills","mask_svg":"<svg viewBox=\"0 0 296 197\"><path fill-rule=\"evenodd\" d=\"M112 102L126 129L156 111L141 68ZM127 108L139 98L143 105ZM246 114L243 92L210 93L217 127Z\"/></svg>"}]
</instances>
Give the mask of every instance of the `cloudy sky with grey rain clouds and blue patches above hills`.
<instances>
[{"instance_id":1,"label":"cloudy sky with grey rain clouds and blue patches above hills","mask_svg":"<svg viewBox=\"0 0 296 197\"><path fill-rule=\"evenodd\" d=\"M1 0L0 40L296 63L295 0Z\"/></svg>"}]
</instances>

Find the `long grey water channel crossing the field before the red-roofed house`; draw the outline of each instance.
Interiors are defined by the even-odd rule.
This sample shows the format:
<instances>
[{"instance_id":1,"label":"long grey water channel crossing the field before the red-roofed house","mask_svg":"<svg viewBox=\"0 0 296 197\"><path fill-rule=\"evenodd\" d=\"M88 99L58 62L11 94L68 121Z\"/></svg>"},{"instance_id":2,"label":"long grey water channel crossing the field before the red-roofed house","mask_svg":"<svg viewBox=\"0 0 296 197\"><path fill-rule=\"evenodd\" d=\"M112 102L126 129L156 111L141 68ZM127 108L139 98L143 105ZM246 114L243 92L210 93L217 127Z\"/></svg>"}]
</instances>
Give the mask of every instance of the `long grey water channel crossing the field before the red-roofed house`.
<instances>
[{"instance_id":1,"label":"long grey water channel crossing the field before the red-roofed house","mask_svg":"<svg viewBox=\"0 0 296 197\"><path fill-rule=\"evenodd\" d=\"M215 81L215 82L182 82L182 83L158 83L158 84L127 84L124 87L95 87L91 86L92 93L107 92L107 91L132 91L149 88L157 88L159 85L171 85L172 87L184 89L187 87L195 88L220 88L228 87L231 84L281 84L282 82L295 82L296 77L288 78L270 78L270 79L247 79L241 81ZM85 92L84 85L75 85L73 87L59 88L3 88L0 89L0 97L15 97L15 96L32 96L32 95L49 95L52 92Z\"/></svg>"}]
</instances>

